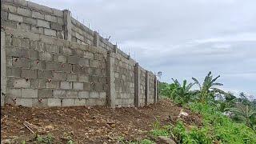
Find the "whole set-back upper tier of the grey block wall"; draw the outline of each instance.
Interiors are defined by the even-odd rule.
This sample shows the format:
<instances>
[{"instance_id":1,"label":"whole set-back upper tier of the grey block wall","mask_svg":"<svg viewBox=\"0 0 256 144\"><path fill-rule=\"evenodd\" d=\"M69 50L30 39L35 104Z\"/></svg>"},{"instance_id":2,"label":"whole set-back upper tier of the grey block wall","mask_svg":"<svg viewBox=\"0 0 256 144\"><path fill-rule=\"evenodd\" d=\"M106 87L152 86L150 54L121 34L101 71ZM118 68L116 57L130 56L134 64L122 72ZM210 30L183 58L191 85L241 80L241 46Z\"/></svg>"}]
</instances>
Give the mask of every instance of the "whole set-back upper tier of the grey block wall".
<instances>
[{"instance_id":1,"label":"whole set-back upper tier of the grey block wall","mask_svg":"<svg viewBox=\"0 0 256 144\"><path fill-rule=\"evenodd\" d=\"M1 1L1 26L30 30L72 42L96 46L114 51L114 45L71 17L69 10L57 10L25 0ZM117 48L117 53L128 58L128 54Z\"/></svg>"}]
</instances>

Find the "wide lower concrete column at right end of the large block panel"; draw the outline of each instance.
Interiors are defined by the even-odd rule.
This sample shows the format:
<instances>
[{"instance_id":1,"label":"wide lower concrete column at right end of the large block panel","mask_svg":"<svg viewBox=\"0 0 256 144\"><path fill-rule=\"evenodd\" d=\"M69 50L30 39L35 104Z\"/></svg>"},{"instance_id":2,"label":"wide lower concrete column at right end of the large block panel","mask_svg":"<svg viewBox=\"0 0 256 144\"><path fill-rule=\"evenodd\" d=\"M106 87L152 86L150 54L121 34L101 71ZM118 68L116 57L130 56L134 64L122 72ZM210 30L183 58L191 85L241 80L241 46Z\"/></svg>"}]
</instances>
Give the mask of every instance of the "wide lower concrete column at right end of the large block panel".
<instances>
[{"instance_id":1,"label":"wide lower concrete column at right end of the large block panel","mask_svg":"<svg viewBox=\"0 0 256 144\"><path fill-rule=\"evenodd\" d=\"M106 102L107 106L115 107L115 84L114 84L114 58L115 54L108 52L106 61Z\"/></svg>"}]
</instances>

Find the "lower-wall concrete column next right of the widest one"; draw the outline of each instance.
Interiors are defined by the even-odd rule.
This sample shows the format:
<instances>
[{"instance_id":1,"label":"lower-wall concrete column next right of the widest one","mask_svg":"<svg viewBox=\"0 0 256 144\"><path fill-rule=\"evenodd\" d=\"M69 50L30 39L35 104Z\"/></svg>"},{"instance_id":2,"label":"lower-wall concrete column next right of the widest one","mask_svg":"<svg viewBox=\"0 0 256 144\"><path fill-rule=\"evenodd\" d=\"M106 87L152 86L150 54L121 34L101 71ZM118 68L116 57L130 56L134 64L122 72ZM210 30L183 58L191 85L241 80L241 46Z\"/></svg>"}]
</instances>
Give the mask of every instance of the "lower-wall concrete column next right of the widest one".
<instances>
[{"instance_id":1,"label":"lower-wall concrete column next right of the widest one","mask_svg":"<svg viewBox=\"0 0 256 144\"><path fill-rule=\"evenodd\" d=\"M138 62L134 68L134 106L139 107L139 65Z\"/></svg>"}]
</instances>

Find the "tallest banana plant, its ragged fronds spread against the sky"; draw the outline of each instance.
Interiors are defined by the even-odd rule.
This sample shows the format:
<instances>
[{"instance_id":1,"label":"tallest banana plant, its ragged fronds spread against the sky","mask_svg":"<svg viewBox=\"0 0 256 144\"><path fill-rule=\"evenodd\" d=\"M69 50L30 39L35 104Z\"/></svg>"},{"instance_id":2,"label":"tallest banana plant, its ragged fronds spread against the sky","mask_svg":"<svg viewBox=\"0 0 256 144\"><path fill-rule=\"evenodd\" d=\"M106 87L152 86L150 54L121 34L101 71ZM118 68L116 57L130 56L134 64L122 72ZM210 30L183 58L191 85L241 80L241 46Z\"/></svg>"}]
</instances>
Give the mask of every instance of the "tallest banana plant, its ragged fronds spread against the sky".
<instances>
[{"instance_id":1,"label":"tallest banana plant, its ragged fronds spread against the sky","mask_svg":"<svg viewBox=\"0 0 256 144\"><path fill-rule=\"evenodd\" d=\"M198 101L202 103L209 102L210 99L214 98L215 93L221 93L225 94L223 90L220 90L214 86L223 86L222 83L215 82L218 78L220 78L220 75L218 77L213 78L213 75L211 72L209 72L206 75L206 78L204 79L202 85L200 82L198 82L198 79L192 78L194 80L194 83L199 86L198 93Z\"/></svg>"}]
</instances>

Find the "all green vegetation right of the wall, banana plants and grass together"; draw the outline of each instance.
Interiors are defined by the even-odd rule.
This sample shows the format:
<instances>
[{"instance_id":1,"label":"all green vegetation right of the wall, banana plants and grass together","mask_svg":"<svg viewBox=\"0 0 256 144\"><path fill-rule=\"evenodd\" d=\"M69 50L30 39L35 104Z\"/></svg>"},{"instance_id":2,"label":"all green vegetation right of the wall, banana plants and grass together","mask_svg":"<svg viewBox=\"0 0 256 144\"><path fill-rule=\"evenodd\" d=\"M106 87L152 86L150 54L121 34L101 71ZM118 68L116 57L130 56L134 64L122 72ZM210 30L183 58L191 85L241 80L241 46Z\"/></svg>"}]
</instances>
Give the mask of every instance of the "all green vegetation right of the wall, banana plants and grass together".
<instances>
[{"instance_id":1,"label":"all green vegetation right of the wall, banana plants and grass together","mask_svg":"<svg viewBox=\"0 0 256 144\"><path fill-rule=\"evenodd\" d=\"M256 143L256 100L248 100L243 93L237 98L219 89L222 83L218 78L209 72L202 84L197 78L189 84L184 80L181 85L174 79L171 84L161 84L160 94L201 114L203 126L189 130L177 122L152 134L168 134L178 143ZM192 90L193 86L198 89Z\"/></svg>"}]
</instances>

